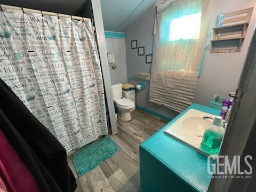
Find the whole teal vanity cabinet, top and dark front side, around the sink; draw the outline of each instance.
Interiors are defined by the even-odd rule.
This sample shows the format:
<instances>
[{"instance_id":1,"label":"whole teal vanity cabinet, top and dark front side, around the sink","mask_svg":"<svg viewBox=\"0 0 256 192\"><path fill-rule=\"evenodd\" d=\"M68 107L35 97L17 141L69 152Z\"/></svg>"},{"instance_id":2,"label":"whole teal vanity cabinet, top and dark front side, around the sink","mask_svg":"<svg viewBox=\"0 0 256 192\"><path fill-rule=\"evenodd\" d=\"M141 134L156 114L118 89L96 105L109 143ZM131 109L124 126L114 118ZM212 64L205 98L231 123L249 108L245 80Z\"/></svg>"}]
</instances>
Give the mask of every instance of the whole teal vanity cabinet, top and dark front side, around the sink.
<instances>
[{"instance_id":1,"label":"whole teal vanity cabinet, top and dark front side, around the sink","mask_svg":"<svg viewBox=\"0 0 256 192\"><path fill-rule=\"evenodd\" d=\"M193 104L144 141L140 145L142 192L207 191L211 180L207 173L207 157L164 133L189 109L220 114L220 109Z\"/></svg>"}]
</instances>

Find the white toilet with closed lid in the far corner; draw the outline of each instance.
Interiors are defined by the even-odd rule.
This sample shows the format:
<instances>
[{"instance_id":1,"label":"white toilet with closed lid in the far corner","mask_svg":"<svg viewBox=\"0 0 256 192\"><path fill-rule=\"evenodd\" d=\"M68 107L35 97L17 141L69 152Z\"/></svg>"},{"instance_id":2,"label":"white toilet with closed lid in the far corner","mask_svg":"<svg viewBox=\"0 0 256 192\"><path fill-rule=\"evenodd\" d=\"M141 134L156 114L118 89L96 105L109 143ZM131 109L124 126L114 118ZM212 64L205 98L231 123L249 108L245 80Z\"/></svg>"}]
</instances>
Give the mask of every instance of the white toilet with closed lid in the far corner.
<instances>
[{"instance_id":1,"label":"white toilet with closed lid in the far corner","mask_svg":"<svg viewBox=\"0 0 256 192\"><path fill-rule=\"evenodd\" d=\"M117 115L124 121L131 120L131 111L135 107L130 99L122 98L122 83L113 84L113 99L117 107Z\"/></svg>"}]
</instances>

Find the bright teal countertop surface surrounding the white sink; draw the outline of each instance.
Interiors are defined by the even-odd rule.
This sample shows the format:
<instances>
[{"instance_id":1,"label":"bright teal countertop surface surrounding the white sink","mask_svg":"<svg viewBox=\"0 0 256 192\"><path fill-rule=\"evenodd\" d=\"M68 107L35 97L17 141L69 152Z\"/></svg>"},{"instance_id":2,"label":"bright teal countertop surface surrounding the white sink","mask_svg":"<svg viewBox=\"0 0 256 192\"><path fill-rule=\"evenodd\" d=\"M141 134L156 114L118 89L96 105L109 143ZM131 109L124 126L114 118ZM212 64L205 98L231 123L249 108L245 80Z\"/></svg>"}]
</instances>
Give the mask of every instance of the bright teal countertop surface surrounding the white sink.
<instances>
[{"instance_id":1,"label":"bright teal countertop surface surrounding the white sink","mask_svg":"<svg viewBox=\"0 0 256 192\"><path fill-rule=\"evenodd\" d=\"M172 123L177 121L189 109L197 109L219 115L220 109L193 104L177 117L163 126L159 131L144 141L140 147L158 159L164 166L187 182L198 191L207 191L211 178L207 173L207 157L198 153L195 149L187 146L170 135L164 133Z\"/></svg>"}]
</instances>

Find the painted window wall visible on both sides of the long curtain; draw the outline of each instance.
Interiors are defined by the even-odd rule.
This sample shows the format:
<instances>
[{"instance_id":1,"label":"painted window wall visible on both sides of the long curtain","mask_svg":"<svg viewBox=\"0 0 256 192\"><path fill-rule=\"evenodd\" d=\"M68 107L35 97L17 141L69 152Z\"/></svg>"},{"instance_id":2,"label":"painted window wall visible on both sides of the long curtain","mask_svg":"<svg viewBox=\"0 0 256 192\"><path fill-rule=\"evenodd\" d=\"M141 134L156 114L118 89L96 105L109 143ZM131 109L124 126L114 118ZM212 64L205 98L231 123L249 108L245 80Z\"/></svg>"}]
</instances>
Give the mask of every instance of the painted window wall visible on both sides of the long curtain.
<instances>
[{"instance_id":1,"label":"painted window wall visible on both sides of the long curtain","mask_svg":"<svg viewBox=\"0 0 256 192\"><path fill-rule=\"evenodd\" d=\"M244 40L242 52L237 53L209 53L209 40L213 37L212 27L215 26L217 15L232 11L242 10L252 7L256 0L214 0L213 10L207 38L207 46L204 55L204 62L201 77L198 78L194 103L209 105L210 99L214 94L228 96L229 92L236 90L236 86L241 74L243 63L247 53L247 47L250 45L250 39L254 31L256 21L256 7L254 7L246 38ZM145 46L145 53L149 54L153 47L153 28L154 28L155 10L149 12L141 18L132 28L126 31L126 58L128 77L135 75L137 72L150 72L150 65L145 63L144 58L138 57L138 50L131 49L131 41L137 39L138 46ZM154 55L153 55L154 57ZM149 86L149 84L148 84ZM163 115L173 113L169 108L154 105L149 102L149 90L138 94L138 105L149 108ZM143 101L143 103L142 103Z\"/></svg>"}]
</instances>

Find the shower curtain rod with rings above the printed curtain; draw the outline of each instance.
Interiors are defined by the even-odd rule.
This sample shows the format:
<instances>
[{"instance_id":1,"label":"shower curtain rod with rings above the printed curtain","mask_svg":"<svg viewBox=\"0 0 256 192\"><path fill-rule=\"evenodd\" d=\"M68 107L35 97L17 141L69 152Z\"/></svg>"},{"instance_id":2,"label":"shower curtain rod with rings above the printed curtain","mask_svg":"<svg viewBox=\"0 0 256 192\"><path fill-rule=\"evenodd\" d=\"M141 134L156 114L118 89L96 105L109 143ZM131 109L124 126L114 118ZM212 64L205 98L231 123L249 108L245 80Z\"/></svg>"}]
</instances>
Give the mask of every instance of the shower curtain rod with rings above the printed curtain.
<instances>
[{"instance_id":1,"label":"shower curtain rod with rings above the printed curtain","mask_svg":"<svg viewBox=\"0 0 256 192\"><path fill-rule=\"evenodd\" d=\"M18 7L18 6L4 5L4 4L0 4L0 6L1 6L1 11L3 9L13 9L13 10L21 10L23 13L26 11L26 12L32 12L32 13L39 13L39 14L42 14L42 15L57 16L58 18L63 17L63 18L71 18L71 19L75 19L75 20L92 21L92 19L90 19L90 18L78 17L78 16L75 16L75 15L68 15L68 14L62 14L62 13L49 12L49 11L34 10L34 9L28 9L28 8L23 8L23 7Z\"/></svg>"}]
</instances>

